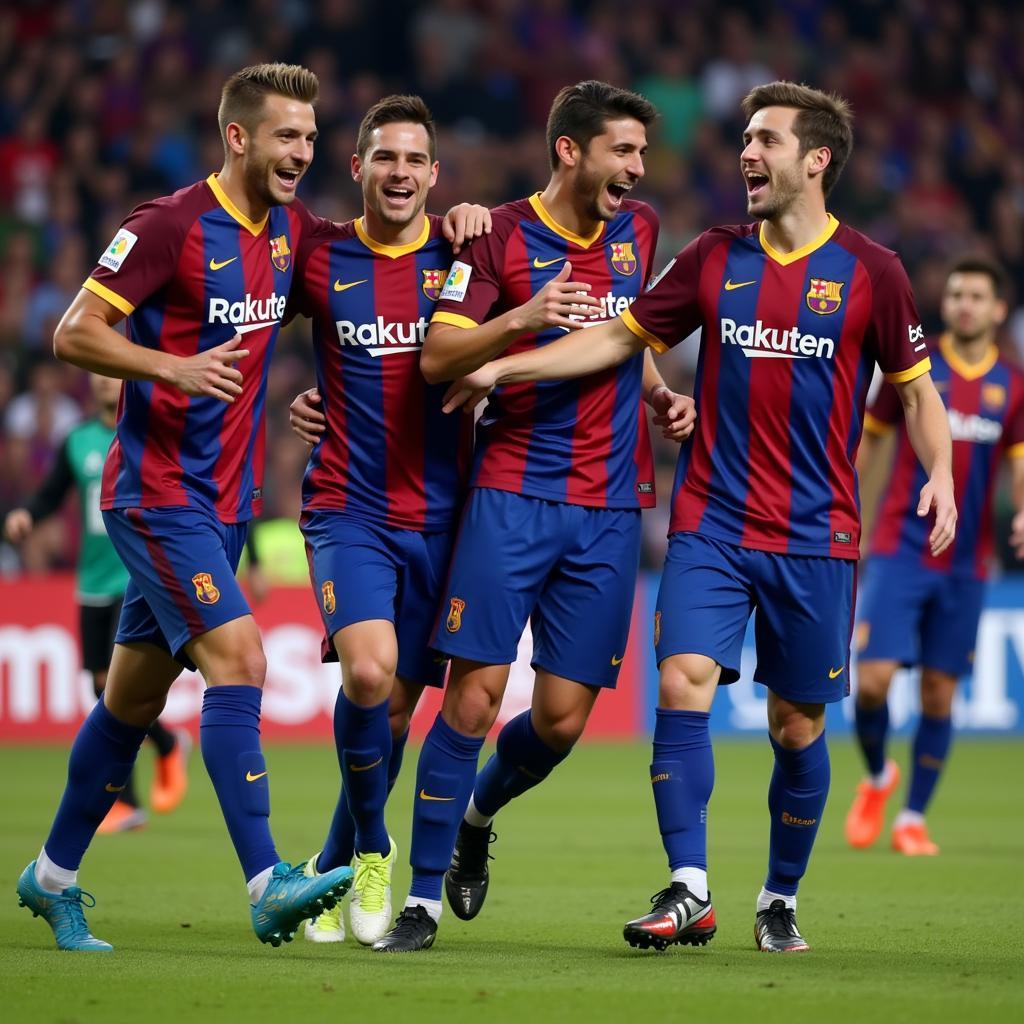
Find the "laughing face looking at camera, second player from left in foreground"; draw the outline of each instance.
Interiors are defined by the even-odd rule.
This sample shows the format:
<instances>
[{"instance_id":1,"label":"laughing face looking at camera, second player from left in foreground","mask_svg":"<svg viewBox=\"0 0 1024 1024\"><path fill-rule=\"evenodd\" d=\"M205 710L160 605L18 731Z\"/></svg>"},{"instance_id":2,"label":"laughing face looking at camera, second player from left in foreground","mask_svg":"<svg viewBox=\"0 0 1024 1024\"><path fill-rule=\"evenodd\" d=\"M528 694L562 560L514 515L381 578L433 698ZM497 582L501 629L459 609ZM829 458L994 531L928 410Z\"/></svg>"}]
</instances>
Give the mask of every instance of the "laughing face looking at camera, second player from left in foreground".
<instances>
[{"instance_id":1,"label":"laughing face looking at camera, second player from left in foreground","mask_svg":"<svg viewBox=\"0 0 1024 1024\"><path fill-rule=\"evenodd\" d=\"M417 221L437 180L427 129L410 121L375 128L366 153L352 157L352 177L362 186L368 214L394 227Z\"/></svg>"}]
</instances>

